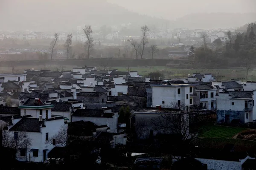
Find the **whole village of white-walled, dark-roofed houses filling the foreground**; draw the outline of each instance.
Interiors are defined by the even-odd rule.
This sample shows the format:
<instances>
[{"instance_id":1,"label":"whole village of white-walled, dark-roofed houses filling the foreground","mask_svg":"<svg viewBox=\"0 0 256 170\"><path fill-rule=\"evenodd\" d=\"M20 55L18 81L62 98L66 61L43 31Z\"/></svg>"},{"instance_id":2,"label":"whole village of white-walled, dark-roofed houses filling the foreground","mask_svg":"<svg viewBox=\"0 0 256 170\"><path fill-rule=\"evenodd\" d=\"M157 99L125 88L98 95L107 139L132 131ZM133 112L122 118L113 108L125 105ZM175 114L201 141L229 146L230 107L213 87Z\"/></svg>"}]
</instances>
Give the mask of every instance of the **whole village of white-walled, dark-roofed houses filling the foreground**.
<instances>
[{"instance_id":1,"label":"whole village of white-walled, dark-roofed houses filling the foreground","mask_svg":"<svg viewBox=\"0 0 256 170\"><path fill-rule=\"evenodd\" d=\"M81 67L0 74L1 153L6 161L60 166L86 158L135 169L250 169L255 89L256 82L210 73L151 79Z\"/></svg>"}]
</instances>

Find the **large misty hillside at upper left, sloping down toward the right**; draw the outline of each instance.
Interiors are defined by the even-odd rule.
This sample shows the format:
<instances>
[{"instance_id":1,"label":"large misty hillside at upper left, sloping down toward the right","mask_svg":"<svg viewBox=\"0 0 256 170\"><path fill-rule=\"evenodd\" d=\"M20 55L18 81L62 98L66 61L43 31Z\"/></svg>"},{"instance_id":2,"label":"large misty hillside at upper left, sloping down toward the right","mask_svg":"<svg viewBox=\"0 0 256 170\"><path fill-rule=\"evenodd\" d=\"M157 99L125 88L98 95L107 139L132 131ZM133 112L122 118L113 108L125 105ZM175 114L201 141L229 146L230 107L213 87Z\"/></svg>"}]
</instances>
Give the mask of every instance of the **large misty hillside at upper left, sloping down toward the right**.
<instances>
[{"instance_id":1,"label":"large misty hillside at upper left, sloping down toward the right","mask_svg":"<svg viewBox=\"0 0 256 170\"><path fill-rule=\"evenodd\" d=\"M84 24L101 26L132 23L141 26L166 23L166 20L142 16L115 4L107 3L106 0L12 1L16 1L15 6L7 2L4 4L7 8L0 11L0 14L5 16L2 22L6 23L0 27L0 30L63 31L76 29L76 26Z\"/></svg>"}]
</instances>

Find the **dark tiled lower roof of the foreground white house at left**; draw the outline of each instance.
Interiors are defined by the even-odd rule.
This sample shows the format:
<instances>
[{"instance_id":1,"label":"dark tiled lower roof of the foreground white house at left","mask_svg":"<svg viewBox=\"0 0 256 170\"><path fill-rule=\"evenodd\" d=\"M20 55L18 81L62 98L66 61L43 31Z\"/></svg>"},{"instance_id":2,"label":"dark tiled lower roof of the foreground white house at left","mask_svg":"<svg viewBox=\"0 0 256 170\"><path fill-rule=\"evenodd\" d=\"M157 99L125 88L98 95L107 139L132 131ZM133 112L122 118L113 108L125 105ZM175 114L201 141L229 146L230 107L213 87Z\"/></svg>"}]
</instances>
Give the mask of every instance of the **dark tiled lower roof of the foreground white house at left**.
<instances>
[{"instance_id":1,"label":"dark tiled lower roof of the foreground white house at left","mask_svg":"<svg viewBox=\"0 0 256 170\"><path fill-rule=\"evenodd\" d=\"M40 132L41 124L44 125L44 122L39 122L39 120L36 118L22 118L12 128L10 128L10 130L23 132Z\"/></svg>"}]
</instances>

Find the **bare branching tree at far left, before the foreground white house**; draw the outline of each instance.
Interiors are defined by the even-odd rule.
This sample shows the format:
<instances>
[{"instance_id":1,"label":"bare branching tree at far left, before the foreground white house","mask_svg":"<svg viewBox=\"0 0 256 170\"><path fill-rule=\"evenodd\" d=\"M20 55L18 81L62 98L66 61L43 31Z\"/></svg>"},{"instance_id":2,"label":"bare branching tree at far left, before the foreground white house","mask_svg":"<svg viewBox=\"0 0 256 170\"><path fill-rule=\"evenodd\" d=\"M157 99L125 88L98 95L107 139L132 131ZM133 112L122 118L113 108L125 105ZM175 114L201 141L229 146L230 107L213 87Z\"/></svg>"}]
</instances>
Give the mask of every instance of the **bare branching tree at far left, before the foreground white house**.
<instances>
[{"instance_id":1,"label":"bare branching tree at far left, before the foreground white house","mask_svg":"<svg viewBox=\"0 0 256 170\"><path fill-rule=\"evenodd\" d=\"M12 148L16 154L20 152L20 149L26 149L31 146L32 139L24 131L2 130L2 135L3 147Z\"/></svg>"}]
</instances>

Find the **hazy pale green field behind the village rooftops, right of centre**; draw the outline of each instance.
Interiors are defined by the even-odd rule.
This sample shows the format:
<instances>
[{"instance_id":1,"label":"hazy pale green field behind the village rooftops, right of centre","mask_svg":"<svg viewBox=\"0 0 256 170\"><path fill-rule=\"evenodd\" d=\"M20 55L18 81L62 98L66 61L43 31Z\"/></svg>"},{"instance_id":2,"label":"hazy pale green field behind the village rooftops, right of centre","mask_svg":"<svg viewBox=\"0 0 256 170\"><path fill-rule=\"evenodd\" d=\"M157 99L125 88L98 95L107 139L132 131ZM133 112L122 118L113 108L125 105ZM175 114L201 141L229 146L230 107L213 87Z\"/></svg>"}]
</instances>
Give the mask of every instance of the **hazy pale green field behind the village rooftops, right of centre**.
<instances>
[{"instance_id":1,"label":"hazy pale green field behind the village rooftops, right of centre","mask_svg":"<svg viewBox=\"0 0 256 170\"><path fill-rule=\"evenodd\" d=\"M125 67L117 67L119 71L127 71ZM240 79L246 81L246 71L244 68L223 68L223 69L178 69L164 66L153 67L130 67L131 71L138 71L140 75L146 76L150 72L160 71L165 79L186 78L193 73L211 73L219 81L229 81L230 79ZM256 81L256 69L248 73L248 81Z\"/></svg>"}]
</instances>

